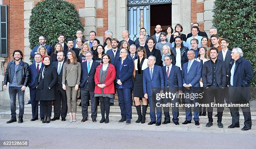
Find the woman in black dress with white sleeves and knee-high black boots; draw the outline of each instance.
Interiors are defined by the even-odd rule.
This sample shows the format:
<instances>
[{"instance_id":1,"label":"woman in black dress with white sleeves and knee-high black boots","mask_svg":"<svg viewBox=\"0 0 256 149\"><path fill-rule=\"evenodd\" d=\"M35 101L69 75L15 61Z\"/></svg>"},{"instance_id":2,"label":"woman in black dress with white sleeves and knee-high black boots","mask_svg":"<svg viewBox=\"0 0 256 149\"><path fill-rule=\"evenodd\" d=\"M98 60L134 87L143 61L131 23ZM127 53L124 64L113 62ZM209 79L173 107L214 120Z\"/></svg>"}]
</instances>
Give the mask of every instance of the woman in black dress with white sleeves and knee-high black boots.
<instances>
[{"instance_id":1,"label":"woman in black dress with white sleeves and knee-high black boots","mask_svg":"<svg viewBox=\"0 0 256 149\"><path fill-rule=\"evenodd\" d=\"M135 107L138 113L138 120L136 123L145 123L146 111L148 107L147 99L144 98L143 94L143 70L148 67L148 59L146 54L146 48L139 46L137 49L138 59L134 61L134 71L133 77L133 97L135 101ZM140 98L142 98L142 114L141 114L141 103Z\"/></svg>"}]
</instances>

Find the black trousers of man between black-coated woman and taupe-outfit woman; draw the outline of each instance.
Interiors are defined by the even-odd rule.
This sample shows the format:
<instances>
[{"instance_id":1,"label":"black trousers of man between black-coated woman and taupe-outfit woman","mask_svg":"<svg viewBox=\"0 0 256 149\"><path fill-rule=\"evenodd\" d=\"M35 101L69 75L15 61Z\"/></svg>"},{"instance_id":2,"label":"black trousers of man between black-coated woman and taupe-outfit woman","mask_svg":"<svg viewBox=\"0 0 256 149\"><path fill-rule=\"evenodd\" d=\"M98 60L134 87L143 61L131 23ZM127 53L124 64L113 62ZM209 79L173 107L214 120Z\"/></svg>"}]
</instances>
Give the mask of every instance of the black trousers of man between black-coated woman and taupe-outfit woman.
<instances>
[{"instance_id":1,"label":"black trousers of man between black-coated woman and taupe-outfit woman","mask_svg":"<svg viewBox=\"0 0 256 149\"><path fill-rule=\"evenodd\" d=\"M56 100L54 101L54 117L65 118L67 116L67 96L66 91L56 87Z\"/></svg>"}]
</instances>

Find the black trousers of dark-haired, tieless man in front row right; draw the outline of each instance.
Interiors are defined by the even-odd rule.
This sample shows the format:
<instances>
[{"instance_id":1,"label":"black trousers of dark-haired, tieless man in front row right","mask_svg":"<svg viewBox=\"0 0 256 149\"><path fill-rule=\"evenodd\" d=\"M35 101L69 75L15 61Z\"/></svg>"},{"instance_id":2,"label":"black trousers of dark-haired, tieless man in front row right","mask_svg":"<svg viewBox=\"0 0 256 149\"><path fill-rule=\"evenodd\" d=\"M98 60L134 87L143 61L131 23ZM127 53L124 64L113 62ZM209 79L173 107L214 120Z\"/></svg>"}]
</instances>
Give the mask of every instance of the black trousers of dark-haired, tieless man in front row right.
<instances>
[{"instance_id":1,"label":"black trousers of dark-haired, tieless man in front row right","mask_svg":"<svg viewBox=\"0 0 256 149\"><path fill-rule=\"evenodd\" d=\"M220 88L220 87L210 86L209 88L206 88L205 91L206 91L206 97L207 97L207 104L210 104L210 106L207 107L208 119L209 119L209 122L213 122L213 119L212 119L213 107L211 106L211 103L214 103L214 97L215 97L216 104L224 104L224 96L223 96L224 90L223 88ZM217 122L222 121L223 110L224 110L224 107L217 107L217 113L218 113Z\"/></svg>"}]
</instances>

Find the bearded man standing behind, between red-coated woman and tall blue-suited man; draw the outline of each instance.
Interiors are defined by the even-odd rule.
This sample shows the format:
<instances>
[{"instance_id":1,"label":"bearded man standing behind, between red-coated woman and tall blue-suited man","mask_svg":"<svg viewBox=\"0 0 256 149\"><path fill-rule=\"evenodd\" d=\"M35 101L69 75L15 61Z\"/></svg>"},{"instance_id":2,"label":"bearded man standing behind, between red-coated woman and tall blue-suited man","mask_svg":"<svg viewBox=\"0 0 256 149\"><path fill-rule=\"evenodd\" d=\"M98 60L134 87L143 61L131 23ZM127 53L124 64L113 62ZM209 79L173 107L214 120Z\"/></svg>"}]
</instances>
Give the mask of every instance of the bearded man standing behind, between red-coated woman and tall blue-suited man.
<instances>
[{"instance_id":1,"label":"bearded man standing behind, between red-coated woman and tall blue-suited man","mask_svg":"<svg viewBox=\"0 0 256 149\"><path fill-rule=\"evenodd\" d=\"M107 51L107 54L110 56L111 58L111 64L115 65L115 63L117 63L120 59L120 48L118 48L118 39L113 38L111 40L111 45L112 45L112 49ZM110 106L114 105L114 99L110 99Z\"/></svg>"}]
</instances>

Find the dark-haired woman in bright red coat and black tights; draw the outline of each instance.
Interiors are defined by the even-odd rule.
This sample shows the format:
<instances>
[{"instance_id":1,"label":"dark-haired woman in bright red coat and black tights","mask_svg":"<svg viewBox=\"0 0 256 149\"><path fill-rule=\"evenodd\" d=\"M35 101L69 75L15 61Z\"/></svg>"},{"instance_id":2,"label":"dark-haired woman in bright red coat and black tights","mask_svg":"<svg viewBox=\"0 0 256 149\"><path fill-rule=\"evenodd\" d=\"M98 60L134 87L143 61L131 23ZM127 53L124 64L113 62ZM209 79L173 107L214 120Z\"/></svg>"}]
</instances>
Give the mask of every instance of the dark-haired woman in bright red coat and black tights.
<instances>
[{"instance_id":1,"label":"dark-haired woman in bright red coat and black tights","mask_svg":"<svg viewBox=\"0 0 256 149\"><path fill-rule=\"evenodd\" d=\"M114 98L115 87L115 66L110 62L110 56L108 54L104 54L102 56L102 64L97 66L96 73L94 76L95 79L95 97L100 98L100 111L101 111L101 120L100 123L108 123L109 122L109 111L110 111L110 103L109 99ZM106 118L105 118L106 111Z\"/></svg>"}]
</instances>

